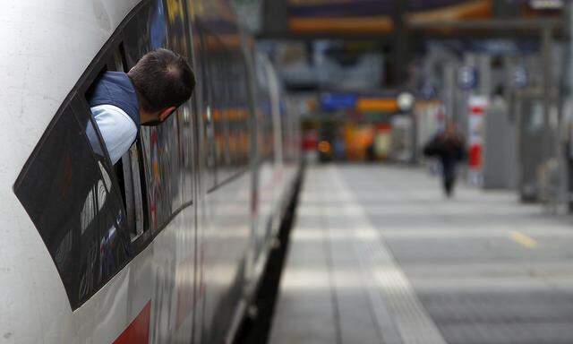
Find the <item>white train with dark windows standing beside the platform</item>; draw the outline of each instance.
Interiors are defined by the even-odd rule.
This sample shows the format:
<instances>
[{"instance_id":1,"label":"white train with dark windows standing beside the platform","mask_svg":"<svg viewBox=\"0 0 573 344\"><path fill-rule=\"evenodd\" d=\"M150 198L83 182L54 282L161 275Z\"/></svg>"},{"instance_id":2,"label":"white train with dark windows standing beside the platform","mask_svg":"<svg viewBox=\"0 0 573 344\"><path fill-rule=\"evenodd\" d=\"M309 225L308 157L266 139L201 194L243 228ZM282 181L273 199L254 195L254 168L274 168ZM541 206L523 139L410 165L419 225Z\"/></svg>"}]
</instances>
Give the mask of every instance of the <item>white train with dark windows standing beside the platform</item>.
<instances>
[{"instance_id":1,"label":"white train with dark windows standing beside the platform","mask_svg":"<svg viewBox=\"0 0 573 344\"><path fill-rule=\"evenodd\" d=\"M226 0L0 13L0 342L232 342L302 170L269 57ZM196 89L112 165L90 90L158 47Z\"/></svg>"}]
</instances>

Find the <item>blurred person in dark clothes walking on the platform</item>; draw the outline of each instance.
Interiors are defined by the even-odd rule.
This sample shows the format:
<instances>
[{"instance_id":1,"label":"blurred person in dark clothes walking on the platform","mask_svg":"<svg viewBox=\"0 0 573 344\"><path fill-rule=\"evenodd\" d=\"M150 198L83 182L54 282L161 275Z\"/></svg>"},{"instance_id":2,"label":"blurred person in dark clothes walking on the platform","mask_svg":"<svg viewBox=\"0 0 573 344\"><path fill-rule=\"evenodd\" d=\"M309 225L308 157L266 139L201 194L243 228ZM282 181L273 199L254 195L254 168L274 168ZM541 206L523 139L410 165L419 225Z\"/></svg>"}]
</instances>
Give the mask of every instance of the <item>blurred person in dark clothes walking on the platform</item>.
<instances>
[{"instance_id":1,"label":"blurred person in dark clothes walking on the platform","mask_svg":"<svg viewBox=\"0 0 573 344\"><path fill-rule=\"evenodd\" d=\"M466 140L458 133L456 125L449 122L446 130L437 133L423 149L427 157L440 159L441 177L444 193L451 197L456 184L457 167L466 159Z\"/></svg>"}]
</instances>

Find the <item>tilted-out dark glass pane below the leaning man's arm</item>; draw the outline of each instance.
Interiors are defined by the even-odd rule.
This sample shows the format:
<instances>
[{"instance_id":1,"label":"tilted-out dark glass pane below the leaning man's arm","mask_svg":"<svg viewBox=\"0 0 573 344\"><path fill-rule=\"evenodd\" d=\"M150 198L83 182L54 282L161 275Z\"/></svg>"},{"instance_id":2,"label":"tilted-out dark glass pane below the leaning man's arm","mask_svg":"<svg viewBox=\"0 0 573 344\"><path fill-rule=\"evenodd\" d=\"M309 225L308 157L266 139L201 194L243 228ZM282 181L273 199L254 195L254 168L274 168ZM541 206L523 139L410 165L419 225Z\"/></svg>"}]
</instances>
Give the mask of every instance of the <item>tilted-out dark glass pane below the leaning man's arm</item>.
<instances>
[{"instance_id":1,"label":"tilted-out dark glass pane below the leaning man's arm","mask_svg":"<svg viewBox=\"0 0 573 344\"><path fill-rule=\"evenodd\" d=\"M76 98L58 112L14 185L73 309L130 256L121 198L104 152L97 128Z\"/></svg>"}]
</instances>

